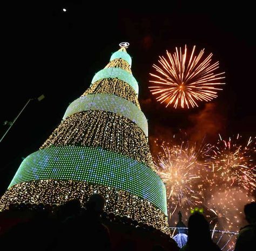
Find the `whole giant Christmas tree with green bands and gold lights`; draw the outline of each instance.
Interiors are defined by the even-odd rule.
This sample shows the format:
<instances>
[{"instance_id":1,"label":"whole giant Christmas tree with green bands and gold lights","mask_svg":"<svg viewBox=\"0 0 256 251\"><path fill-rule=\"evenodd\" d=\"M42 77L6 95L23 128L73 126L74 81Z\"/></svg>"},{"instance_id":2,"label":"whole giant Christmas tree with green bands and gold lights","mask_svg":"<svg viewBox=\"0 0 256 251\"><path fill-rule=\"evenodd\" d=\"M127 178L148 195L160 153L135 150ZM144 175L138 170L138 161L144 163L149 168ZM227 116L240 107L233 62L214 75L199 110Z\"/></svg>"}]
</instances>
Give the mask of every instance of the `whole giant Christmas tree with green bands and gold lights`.
<instances>
[{"instance_id":1,"label":"whole giant Christmas tree with green bands and gold lights","mask_svg":"<svg viewBox=\"0 0 256 251\"><path fill-rule=\"evenodd\" d=\"M168 233L165 186L154 170L138 92L123 46L69 105L40 150L23 160L0 209L16 202L62 204L75 198L84 205L92 193L100 193L105 211Z\"/></svg>"}]
</instances>

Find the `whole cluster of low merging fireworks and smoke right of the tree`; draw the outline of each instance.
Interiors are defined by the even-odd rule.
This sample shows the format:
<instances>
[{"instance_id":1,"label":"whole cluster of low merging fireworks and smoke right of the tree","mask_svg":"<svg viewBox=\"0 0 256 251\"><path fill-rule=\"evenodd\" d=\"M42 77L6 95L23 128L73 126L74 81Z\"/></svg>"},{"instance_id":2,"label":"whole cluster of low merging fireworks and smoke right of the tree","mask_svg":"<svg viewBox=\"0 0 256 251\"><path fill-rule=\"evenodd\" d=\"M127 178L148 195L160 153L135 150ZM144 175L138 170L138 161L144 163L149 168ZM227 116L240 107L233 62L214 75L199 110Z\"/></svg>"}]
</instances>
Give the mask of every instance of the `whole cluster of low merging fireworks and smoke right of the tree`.
<instances>
[{"instance_id":1,"label":"whole cluster of low merging fireworks and smoke right of the tree","mask_svg":"<svg viewBox=\"0 0 256 251\"><path fill-rule=\"evenodd\" d=\"M254 200L255 138L246 144L237 135L220 137L215 145L196 147L185 141L157 146L155 165L165 182L171 226L176 226L178 211L186 222L190 209L199 207L212 227L238 231L245 223L242 208Z\"/></svg>"}]
</instances>

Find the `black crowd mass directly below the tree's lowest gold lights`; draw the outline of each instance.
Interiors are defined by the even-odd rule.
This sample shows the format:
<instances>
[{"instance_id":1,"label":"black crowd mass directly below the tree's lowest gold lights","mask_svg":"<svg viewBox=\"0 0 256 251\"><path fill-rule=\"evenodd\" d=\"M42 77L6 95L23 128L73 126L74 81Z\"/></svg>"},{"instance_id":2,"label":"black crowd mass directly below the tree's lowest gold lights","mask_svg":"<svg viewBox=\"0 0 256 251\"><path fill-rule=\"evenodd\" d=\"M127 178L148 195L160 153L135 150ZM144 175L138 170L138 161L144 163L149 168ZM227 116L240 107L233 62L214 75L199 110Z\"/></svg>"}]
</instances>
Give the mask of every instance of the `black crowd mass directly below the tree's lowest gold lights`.
<instances>
[{"instance_id":1,"label":"black crowd mass directly below the tree's lowest gold lights","mask_svg":"<svg viewBox=\"0 0 256 251\"><path fill-rule=\"evenodd\" d=\"M12 204L0 213L0 251L179 250L169 235L127 216L106 213L104 204L99 194L91 195L84 207L76 199L60 206Z\"/></svg>"}]
</instances>

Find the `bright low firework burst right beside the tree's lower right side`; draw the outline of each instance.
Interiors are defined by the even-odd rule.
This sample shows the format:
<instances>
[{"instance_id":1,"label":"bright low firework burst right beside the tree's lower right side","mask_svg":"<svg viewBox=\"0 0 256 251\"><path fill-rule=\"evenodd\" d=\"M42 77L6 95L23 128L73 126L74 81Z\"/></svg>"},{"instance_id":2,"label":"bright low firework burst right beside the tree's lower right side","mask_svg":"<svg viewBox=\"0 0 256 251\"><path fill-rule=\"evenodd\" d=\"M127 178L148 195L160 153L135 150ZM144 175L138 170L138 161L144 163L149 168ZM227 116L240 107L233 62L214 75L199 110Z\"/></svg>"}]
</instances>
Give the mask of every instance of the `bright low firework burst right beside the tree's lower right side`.
<instances>
[{"instance_id":1,"label":"bright low firework burst right beside the tree's lower right side","mask_svg":"<svg viewBox=\"0 0 256 251\"><path fill-rule=\"evenodd\" d=\"M161 146L155 166L163 179L169 207L170 218L177 209L188 215L190 209L200 205L203 200L200 150L189 145Z\"/></svg>"}]
</instances>

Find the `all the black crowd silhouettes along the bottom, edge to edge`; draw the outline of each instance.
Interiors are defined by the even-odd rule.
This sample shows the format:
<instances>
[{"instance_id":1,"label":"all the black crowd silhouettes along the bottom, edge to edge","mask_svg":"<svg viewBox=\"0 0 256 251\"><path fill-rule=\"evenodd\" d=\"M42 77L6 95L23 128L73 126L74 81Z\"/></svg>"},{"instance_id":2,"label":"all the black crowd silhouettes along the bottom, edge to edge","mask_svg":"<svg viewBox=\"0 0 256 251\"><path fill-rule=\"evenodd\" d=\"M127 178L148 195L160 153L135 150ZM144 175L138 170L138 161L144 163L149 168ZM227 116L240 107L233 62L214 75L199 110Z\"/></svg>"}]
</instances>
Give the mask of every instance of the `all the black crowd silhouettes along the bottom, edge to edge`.
<instances>
[{"instance_id":1,"label":"all the black crowd silhouettes along the bottom, edge to edge","mask_svg":"<svg viewBox=\"0 0 256 251\"><path fill-rule=\"evenodd\" d=\"M23 220L12 222L12 226L6 229L3 229L0 220L0 251L179 250L169 235L126 216L107 214L104 205L105 199L100 194L91 195L85 207L76 199L60 206L43 203L10 205L8 212L21 213ZM241 228L235 251L255 249L255 205L256 202L245 205L244 212L249 224ZM107 226L111 222L110 231ZM212 241L210 226L201 213L196 212L188 219L187 235L187 243L181 251L220 250Z\"/></svg>"}]
</instances>

